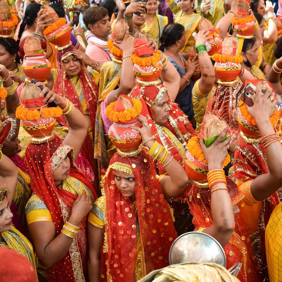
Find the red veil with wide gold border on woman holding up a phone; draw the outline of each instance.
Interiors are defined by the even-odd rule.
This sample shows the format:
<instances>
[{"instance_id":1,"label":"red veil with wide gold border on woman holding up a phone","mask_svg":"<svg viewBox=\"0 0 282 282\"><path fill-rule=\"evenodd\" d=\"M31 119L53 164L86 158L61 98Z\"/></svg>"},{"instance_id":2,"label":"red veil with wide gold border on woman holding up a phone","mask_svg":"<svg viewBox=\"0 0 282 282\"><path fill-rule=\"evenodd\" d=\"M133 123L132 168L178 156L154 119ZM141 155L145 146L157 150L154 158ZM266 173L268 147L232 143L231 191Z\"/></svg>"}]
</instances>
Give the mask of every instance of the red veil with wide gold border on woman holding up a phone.
<instances>
[{"instance_id":1,"label":"red veil with wide gold border on woman holding up a phone","mask_svg":"<svg viewBox=\"0 0 282 282\"><path fill-rule=\"evenodd\" d=\"M31 188L48 207L56 228L56 236L60 234L65 220L70 216L73 203L77 199L77 195L56 186L54 182L53 170L62 162L66 155L70 158L71 163L70 176L85 184L91 190L94 198L97 198L92 184L83 176L73 162L72 152L72 147L63 145L61 141L53 139L40 144L29 143L24 156L24 162L31 178ZM79 227L78 235L80 239L74 239L72 248L70 248L64 258L52 266L49 281L77 281L75 279L75 272L87 275L86 217L82 220ZM79 251L80 255L76 265L72 264L71 256L73 251ZM74 273L66 275L66 273L69 274L71 269L73 269Z\"/></svg>"}]
</instances>

